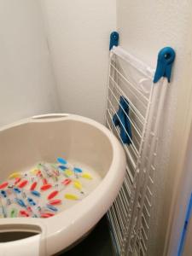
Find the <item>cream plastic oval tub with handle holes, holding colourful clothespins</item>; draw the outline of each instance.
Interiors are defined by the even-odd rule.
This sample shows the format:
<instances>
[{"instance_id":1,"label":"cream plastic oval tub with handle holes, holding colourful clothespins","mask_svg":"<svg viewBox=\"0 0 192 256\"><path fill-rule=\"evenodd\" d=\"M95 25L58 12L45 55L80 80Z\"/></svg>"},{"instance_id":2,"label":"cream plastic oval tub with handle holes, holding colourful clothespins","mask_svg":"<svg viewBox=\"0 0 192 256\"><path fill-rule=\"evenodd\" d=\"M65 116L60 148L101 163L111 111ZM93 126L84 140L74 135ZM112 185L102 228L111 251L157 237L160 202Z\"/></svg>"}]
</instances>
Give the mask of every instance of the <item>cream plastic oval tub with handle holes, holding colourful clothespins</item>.
<instances>
[{"instance_id":1,"label":"cream plastic oval tub with handle holes, holding colourful clothespins","mask_svg":"<svg viewBox=\"0 0 192 256\"><path fill-rule=\"evenodd\" d=\"M38 160L54 161L61 154L93 168L102 177L101 183L55 217L1 218L1 255L58 253L89 232L112 205L124 179L125 153L106 127L78 115L50 114L0 130L1 180Z\"/></svg>"}]
</instances>

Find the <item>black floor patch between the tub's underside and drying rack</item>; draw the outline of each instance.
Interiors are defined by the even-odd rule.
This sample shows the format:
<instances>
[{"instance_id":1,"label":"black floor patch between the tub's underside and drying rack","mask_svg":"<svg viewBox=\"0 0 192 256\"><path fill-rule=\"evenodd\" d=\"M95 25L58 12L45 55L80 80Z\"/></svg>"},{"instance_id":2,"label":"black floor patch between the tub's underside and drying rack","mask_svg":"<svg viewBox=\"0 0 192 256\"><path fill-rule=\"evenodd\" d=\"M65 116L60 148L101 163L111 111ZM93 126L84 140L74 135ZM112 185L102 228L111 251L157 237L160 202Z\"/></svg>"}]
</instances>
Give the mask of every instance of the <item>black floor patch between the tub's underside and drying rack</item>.
<instances>
[{"instance_id":1,"label":"black floor patch between the tub's underside and drying rack","mask_svg":"<svg viewBox=\"0 0 192 256\"><path fill-rule=\"evenodd\" d=\"M102 218L90 235L61 256L113 256L113 247L106 218Z\"/></svg>"}]
</instances>

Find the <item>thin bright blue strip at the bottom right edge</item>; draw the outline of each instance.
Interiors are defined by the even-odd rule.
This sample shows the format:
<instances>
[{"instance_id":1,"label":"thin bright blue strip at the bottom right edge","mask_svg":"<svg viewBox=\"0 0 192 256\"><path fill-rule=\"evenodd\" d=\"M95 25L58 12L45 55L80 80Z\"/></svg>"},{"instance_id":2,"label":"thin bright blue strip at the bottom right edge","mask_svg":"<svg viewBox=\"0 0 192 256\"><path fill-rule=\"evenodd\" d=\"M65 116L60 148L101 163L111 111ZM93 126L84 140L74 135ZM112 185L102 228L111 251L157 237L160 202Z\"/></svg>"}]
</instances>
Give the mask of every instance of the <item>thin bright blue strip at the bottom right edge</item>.
<instances>
[{"instance_id":1,"label":"thin bright blue strip at the bottom right edge","mask_svg":"<svg viewBox=\"0 0 192 256\"><path fill-rule=\"evenodd\" d=\"M178 247L177 256L182 256L182 253L183 253L183 246L184 246L185 236L187 233L187 228L188 228L189 220L191 217L191 213L192 213L192 193L190 195L189 206L188 206L187 213L184 220L183 231L182 231L181 241Z\"/></svg>"}]
</instances>

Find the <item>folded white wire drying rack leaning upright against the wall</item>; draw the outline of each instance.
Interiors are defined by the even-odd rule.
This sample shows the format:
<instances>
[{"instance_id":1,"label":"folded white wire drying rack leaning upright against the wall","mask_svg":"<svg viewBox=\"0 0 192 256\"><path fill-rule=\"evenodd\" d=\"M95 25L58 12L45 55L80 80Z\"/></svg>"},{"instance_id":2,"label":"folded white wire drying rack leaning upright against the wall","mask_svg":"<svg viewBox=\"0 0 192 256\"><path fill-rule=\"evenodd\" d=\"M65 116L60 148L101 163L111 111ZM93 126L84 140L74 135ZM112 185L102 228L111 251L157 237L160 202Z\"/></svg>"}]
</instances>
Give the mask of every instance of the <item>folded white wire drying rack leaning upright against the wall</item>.
<instances>
[{"instance_id":1,"label":"folded white wire drying rack leaning upright against the wall","mask_svg":"<svg viewBox=\"0 0 192 256\"><path fill-rule=\"evenodd\" d=\"M108 211L117 255L144 256L148 252L160 120L174 57L171 48L162 49L155 72L119 46L110 51L106 125L119 138L127 158L124 183ZM113 115L122 108L120 96L129 102L129 114L125 115L131 124L131 137L119 116L121 127L113 123ZM130 145L123 143L120 129L125 130Z\"/></svg>"}]
</instances>

